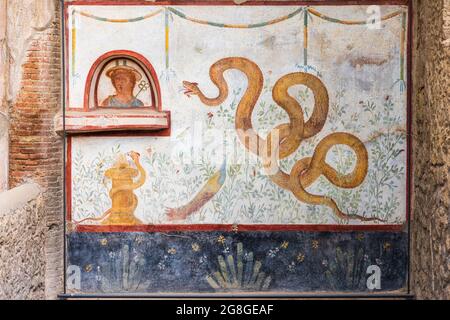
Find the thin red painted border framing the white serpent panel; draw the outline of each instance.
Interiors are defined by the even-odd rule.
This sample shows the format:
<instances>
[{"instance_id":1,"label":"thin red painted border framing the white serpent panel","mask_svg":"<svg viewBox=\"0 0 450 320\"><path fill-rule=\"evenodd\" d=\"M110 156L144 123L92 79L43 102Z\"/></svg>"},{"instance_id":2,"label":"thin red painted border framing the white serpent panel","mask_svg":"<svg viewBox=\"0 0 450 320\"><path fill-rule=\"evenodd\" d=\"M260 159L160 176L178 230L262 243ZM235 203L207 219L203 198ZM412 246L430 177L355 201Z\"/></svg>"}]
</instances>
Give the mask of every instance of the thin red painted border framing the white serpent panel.
<instances>
[{"instance_id":1,"label":"thin red painted border framing the white serpent panel","mask_svg":"<svg viewBox=\"0 0 450 320\"><path fill-rule=\"evenodd\" d=\"M65 30L68 34L68 7L71 5L197 5L197 6L237 6L233 1L157 1L148 2L139 1L72 1L64 4ZM402 225L224 225L224 224L197 224L197 225L141 225L141 226L88 226L81 225L76 227L77 232L177 232L177 231L224 231L224 232L246 232L246 231L303 231L303 232L362 232L362 231L384 231L384 232L409 232L409 223L411 219L411 173L412 173L412 1L411 0L309 0L309 1L248 1L241 6L286 6L286 5L407 5L408 6L408 36L407 36L407 166L406 166L406 221ZM66 47L69 47L69 37L66 36ZM69 74L68 50L66 50L66 75ZM66 77L66 101L69 97L69 77ZM157 79L157 78L156 78ZM161 95L159 94L159 97ZM167 136L170 129L150 134L141 133L104 133L102 136ZM86 134L84 134L86 136ZM94 136L99 136L95 134ZM67 162L66 162L66 209L67 220L71 222L71 189L72 189L72 137L68 137L67 142Z\"/></svg>"}]
</instances>

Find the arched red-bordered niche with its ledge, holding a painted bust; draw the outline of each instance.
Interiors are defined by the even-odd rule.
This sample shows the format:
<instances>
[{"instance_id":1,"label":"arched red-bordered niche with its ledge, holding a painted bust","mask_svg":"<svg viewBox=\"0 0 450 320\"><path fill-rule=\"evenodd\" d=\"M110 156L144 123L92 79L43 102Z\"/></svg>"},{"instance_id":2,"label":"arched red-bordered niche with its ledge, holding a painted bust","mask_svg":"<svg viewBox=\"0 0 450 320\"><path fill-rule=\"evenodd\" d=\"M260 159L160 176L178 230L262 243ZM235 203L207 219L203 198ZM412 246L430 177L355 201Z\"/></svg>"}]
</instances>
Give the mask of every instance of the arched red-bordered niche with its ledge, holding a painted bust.
<instances>
[{"instance_id":1,"label":"arched red-bordered niche with its ledge, holding a painted bust","mask_svg":"<svg viewBox=\"0 0 450 320\"><path fill-rule=\"evenodd\" d=\"M92 65L82 109L56 119L58 132L156 131L170 128L162 111L161 90L151 63L133 51L111 51ZM65 129L65 130L64 130Z\"/></svg>"}]
</instances>

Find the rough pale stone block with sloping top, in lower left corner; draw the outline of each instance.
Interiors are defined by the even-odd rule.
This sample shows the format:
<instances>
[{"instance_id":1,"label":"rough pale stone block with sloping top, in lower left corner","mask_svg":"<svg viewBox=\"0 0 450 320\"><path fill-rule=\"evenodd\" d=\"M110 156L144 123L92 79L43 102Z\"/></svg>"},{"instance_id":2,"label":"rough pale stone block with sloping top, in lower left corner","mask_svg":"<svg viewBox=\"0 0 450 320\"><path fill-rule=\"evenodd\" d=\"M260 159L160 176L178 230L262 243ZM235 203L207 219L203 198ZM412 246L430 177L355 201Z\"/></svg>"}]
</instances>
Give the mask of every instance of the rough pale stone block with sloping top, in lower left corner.
<instances>
[{"instance_id":1,"label":"rough pale stone block with sloping top, in lower left corner","mask_svg":"<svg viewBox=\"0 0 450 320\"><path fill-rule=\"evenodd\" d=\"M45 298L44 243L40 187L25 184L0 193L1 300Z\"/></svg>"}]
</instances>

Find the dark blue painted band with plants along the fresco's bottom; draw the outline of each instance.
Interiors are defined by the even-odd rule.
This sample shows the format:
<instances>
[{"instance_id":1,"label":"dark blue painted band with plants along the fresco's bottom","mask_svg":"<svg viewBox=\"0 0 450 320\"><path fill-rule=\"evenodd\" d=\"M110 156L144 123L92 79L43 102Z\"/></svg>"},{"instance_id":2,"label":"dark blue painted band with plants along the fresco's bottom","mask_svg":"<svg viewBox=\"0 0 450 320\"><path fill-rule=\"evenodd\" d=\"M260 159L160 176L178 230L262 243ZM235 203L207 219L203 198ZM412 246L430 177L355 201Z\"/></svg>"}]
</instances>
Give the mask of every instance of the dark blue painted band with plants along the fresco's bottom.
<instances>
[{"instance_id":1,"label":"dark blue painted band with plants along the fresco's bottom","mask_svg":"<svg viewBox=\"0 0 450 320\"><path fill-rule=\"evenodd\" d=\"M382 270L383 292L398 291L406 248L393 232L72 233L68 263L82 281L69 292L370 293L371 265Z\"/></svg>"}]
</instances>

